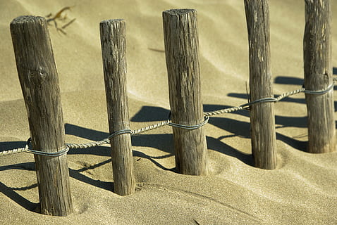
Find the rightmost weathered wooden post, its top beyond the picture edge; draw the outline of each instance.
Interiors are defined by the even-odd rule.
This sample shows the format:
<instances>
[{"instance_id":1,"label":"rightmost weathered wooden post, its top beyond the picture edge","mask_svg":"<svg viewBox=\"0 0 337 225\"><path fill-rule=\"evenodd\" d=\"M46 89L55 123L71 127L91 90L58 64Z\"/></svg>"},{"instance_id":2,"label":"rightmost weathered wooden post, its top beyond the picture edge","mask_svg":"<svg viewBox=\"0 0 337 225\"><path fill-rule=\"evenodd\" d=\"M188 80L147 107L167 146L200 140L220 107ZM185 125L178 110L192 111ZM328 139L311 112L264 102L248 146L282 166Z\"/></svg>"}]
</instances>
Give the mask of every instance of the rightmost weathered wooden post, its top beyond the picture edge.
<instances>
[{"instance_id":1,"label":"rightmost weathered wooden post, its top beyond the picture edge","mask_svg":"<svg viewBox=\"0 0 337 225\"><path fill-rule=\"evenodd\" d=\"M331 63L331 1L305 1L305 89L320 91L333 83ZM333 89L326 94L305 94L310 153L335 150Z\"/></svg>"}]
</instances>

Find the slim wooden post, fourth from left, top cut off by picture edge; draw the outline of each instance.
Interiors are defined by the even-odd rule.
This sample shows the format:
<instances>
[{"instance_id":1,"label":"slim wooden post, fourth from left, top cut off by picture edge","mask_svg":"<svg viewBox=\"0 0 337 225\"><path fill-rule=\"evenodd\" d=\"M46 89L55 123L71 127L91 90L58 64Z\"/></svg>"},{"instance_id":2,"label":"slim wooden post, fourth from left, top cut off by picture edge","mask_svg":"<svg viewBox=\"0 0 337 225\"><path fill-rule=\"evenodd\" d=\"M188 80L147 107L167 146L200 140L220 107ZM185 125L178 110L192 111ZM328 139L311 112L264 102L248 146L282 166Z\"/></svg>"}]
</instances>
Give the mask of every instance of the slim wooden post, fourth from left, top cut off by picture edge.
<instances>
[{"instance_id":1,"label":"slim wooden post, fourth from left, top cut off by picture edge","mask_svg":"<svg viewBox=\"0 0 337 225\"><path fill-rule=\"evenodd\" d=\"M245 0L249 39L250 101L274 97L270 70L269 4L267 0ZM276 168L276 131L274 103L250 107L252 154L255 166Z\"/></svg>"}]
</instances>

